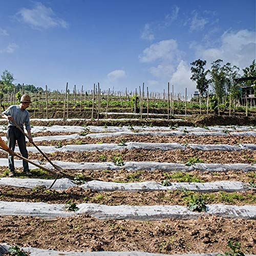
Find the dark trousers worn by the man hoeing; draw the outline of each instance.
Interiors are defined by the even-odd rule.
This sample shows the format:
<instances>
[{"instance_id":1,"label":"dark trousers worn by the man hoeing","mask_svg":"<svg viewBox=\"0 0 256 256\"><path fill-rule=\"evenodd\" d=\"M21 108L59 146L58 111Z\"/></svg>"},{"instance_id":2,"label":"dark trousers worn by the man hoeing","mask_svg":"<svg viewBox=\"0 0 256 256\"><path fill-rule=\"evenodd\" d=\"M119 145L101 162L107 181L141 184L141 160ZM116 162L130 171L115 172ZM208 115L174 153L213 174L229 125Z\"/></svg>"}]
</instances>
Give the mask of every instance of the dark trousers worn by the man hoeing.
<instances>
[{"instance_id":1,"label":"dark trousers worn by the man hoeing","mask_svg":"<svg viewBox=\"0 0 256 256\"><path fill-rule=\"evenodd\" d=\"M11 148L12 151L14 151L16 141L17 141L20 154L22 154L23 157L28 158L25 135L22 132L20 132L16 126L8 127L7 139L8 139L8 142L7 142L8 147ZM9 164L9 170L13 172L15 170L15 167L14 167L14 160L12 155L8 156L8 164ZM29 164L24 160L23 160L23 170L24 172L29 170Z\"/></svg>"}]
</instances>

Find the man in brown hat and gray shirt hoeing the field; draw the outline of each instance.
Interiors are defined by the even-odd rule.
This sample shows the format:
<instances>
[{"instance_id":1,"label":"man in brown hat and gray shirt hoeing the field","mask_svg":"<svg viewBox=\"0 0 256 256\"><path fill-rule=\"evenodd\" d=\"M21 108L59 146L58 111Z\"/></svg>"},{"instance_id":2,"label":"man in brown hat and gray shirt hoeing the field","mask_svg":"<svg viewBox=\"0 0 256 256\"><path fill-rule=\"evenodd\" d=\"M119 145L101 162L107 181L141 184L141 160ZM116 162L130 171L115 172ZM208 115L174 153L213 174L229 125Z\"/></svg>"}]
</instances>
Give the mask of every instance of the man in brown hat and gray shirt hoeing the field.
<instances>
[{"instance_id":1,"label":"man in brown hat and gray shirt hoeing the field","mask_svg":"<svg viewBox=\"0 0 256 256\"><path fill-rule=\"evenodd\" d=\"M26 110L29 107L30 103L31 103L30 96L28 94L25 94L20 98L19 105L9 106L9 108L3 112L4 114L3 117L9 121L8 130L7 130L8 147L12 151L14 151L16 141L17 141L19 151L22 154L22 156L25 158L28 158L25 135L21 131L19 131L19 129L15 126L15 124L12 121L14 120L22 130L24 130L24 124L25 124L26 130L28 132L29 142L32 143L33 139L31 136L29 112ZM15 176L14 160L13 160L13 155L10 154L10 152L8 156L8 162L9 162L9 170L10 170L9 176L14 177ZM23 160L23 172L27 176L32 175L29 170L28 162L24 160Z\"/></svg>"}]
</instances>

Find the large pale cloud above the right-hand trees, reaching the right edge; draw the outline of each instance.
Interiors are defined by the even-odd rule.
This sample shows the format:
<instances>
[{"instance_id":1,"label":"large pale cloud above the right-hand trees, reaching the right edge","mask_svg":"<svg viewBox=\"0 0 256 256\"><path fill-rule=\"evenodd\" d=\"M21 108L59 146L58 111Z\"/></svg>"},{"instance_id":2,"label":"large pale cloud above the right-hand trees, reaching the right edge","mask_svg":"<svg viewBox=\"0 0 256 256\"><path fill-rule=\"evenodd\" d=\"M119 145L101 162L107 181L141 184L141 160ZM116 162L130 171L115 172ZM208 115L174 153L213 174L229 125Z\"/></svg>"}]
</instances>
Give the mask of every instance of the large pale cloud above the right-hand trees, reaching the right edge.
<instances>
[{"instance_id":1,"label":"large pale cloud above the right-hand trees, reaching the right edge","mask_svg":"<svg viewBox=\"0 0 256 256\"><path fill-rule=\"evenodd\" d=\"M255 31L226 31L222 34L219 47L207 48L201 44L193 44L195 56L208 62L223 59L240 68L248 66L255 58Z\"/></svg>"}]
</instances>

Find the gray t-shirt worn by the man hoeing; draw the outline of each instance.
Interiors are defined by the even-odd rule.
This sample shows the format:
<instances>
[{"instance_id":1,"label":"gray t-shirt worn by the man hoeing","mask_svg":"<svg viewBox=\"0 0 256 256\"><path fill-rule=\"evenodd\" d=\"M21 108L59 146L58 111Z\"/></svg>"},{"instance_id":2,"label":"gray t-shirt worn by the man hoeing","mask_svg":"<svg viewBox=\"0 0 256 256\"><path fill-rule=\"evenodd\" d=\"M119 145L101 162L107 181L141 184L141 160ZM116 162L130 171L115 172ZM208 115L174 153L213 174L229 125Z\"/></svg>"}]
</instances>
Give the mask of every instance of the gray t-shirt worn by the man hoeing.
<instances>
[{"instance_id":1,"label":"gray t-shirt worn by the man hoeing","mask_svg":"<svg viewBox=\"0 0 256 256\"><path fill-rule=\"evenodd\" d=\"M22 127L26 126L26 130L31 130L30 120L29 120L29 112L27 110L22 110L18 105L9 106L9 108L3 112L6 116L12 116L14 121L18 124L18 126ZM10 120L8 121L8 127L15 126Z\"/></svg>"}]
</instances>

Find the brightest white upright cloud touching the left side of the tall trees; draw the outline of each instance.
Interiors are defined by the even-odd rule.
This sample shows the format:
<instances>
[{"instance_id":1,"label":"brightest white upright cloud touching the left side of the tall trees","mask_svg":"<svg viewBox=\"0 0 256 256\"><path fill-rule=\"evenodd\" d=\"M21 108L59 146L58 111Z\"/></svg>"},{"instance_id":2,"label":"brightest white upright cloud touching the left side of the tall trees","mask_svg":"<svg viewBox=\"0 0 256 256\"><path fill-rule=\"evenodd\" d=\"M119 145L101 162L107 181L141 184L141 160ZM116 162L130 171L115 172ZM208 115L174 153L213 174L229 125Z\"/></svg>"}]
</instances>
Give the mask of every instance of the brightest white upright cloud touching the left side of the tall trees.
<instances>
[{"instance_id":1,"label":"brightest white upright cloud touching the left side of the tall trees","mask_svg":"<svg viewBox=\"0 0 256 256\"><path fill-rule=\"evenodd\" d=\"M175 93L185 95L185 88L187 88L188 95L197 90L196 83L190 79L191 75L190 66L184 60L181 60L170 79L170 84L174 84Z\"/></svg>"}]
</instances>

